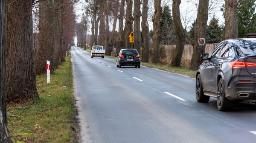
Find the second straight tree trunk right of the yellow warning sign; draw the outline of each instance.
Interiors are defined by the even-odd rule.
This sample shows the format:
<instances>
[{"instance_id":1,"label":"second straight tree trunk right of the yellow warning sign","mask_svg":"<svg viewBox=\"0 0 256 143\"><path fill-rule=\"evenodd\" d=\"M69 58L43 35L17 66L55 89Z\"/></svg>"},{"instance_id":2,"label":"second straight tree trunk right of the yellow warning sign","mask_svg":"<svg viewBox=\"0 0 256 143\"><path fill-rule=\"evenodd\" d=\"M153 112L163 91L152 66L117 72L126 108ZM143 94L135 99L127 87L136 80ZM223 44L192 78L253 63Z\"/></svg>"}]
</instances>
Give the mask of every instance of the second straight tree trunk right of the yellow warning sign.
<instances>
[{"instance_id":1,"label":"second straight tree trunk right of the yellow warning sign","mask_svg":"<svg viewBox=\"0 0 256 143\"><path fill-rule=\"evenodd\" d=\"M142 62L148 62L150 47L150 36L148 28L148 0L143 0L141 28L143 37L143 51L141 60Z\"/></svg>"}]
</instances>

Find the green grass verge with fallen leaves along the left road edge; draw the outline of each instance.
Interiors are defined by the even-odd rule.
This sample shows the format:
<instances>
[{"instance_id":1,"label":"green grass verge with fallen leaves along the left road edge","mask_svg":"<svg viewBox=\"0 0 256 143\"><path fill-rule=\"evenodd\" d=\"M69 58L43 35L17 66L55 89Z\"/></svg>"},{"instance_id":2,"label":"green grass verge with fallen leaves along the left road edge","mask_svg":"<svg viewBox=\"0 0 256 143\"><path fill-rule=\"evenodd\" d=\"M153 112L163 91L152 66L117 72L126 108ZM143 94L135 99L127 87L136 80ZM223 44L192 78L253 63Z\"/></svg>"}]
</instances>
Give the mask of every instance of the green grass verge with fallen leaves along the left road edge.
<instances>
[{"instance_id":1,"label":"green grass verge with fallen leaves along the left road edge","mask_svg":"<svg viewBox=\"0 0 256 143\"><path fill-rule=\"evenodd\" d=\"M7 106L8 127L14 142L77 142L70 58L51 75L50 84L46 84L46 75L37 76L40 100Z\"/></svg>"}]
</instances>

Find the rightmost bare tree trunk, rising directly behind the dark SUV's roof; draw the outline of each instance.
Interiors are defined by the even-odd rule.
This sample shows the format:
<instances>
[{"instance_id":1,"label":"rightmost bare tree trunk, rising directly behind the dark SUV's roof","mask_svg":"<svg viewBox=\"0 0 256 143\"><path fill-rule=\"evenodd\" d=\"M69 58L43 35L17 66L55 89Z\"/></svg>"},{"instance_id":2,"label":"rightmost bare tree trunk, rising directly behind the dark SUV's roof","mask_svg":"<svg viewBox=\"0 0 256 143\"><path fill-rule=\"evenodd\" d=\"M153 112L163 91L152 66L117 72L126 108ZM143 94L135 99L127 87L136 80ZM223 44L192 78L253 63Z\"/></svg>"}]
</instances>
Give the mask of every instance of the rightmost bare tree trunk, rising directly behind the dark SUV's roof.
<instances>
[{"instance_id":1,"label":"rightmost bare tree trunk, rising directly behind the dark SUV's roof","mask_svg":"<svg viewBox=\"0 0 256 143\"><path fill-rule=\"evenodd\" d=\"M226 39L238 37L237 0L225 0Z\"/></svg>"}]
</instances>

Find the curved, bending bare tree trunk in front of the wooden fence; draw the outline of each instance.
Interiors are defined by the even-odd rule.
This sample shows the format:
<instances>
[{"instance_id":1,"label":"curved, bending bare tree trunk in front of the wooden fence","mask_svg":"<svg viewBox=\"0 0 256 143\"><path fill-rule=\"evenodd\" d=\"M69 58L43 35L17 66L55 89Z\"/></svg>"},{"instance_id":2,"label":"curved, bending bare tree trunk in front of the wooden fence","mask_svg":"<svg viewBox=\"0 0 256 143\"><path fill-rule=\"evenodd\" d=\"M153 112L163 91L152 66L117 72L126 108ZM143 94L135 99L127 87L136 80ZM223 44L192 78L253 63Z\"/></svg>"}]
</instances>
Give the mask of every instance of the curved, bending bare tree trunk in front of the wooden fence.
<instances>
[{"instance_id":1,"label":"curved, bending bare tree trunk in front of the wooden fence","mask_svg":"<svg viewBox=\"0 0 256 143\"><path fill-rule=\"evenodd\" d=\"M172 2L173 23L176 32L177 44L171 65L175 67L180 66L186 39L186 33L180 20L180 3L181 0L173 0Z\"/></svg>"}]
</instances>

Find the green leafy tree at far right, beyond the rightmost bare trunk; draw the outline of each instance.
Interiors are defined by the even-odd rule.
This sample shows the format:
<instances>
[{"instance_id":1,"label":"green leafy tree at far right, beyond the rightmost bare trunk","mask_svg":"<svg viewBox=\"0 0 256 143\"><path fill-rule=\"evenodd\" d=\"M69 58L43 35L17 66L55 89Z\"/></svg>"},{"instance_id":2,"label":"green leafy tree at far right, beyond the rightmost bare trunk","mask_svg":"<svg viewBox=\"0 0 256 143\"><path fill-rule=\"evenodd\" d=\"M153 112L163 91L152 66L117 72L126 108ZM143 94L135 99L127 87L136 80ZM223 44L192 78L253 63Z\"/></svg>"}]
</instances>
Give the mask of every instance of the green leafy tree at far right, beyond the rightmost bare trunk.
<instances>
[{"instance_id":1,"label":"green leafy tree at far right, beyond the rightmost bare trunk","mask_svg":"<svg viewBox=\"0 0 256 143\"><path fill-rule=\"evenodd\" d=\"M255 33L253 29L254 20L254 11L256 0L241 0L237 8L238 13L238 37L245 38L248 33Z\"/></svg>"}]
</instances>

